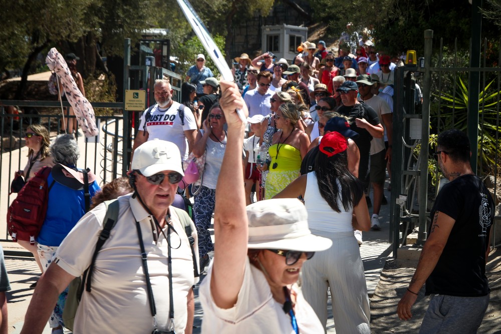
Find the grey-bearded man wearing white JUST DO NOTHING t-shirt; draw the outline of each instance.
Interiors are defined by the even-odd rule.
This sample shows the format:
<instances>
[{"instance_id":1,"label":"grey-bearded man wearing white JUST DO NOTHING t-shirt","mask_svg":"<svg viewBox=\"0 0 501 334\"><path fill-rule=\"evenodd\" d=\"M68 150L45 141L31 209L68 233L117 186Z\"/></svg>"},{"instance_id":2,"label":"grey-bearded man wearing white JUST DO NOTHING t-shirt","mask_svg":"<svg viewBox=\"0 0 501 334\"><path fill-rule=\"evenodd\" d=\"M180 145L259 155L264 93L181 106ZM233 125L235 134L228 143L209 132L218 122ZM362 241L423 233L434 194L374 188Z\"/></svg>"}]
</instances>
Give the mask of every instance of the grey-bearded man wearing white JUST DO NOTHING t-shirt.
<instances>
[{"instance_id":1,"label":"grey-bearded man wearing white JUST DO NOTHING t-shirt","mask_svg":"<svg viewBox=\"0 0 501 334\"><path fill-rule=\"evenodd\" d=\"M196 122L193 113L189 108L172 100L169 81L156 80L153 89L156 104L141 115L132 154L139 145L157 138L176 144L181 158L185 159L195 143Z\"/></svg>"}]
</instances>

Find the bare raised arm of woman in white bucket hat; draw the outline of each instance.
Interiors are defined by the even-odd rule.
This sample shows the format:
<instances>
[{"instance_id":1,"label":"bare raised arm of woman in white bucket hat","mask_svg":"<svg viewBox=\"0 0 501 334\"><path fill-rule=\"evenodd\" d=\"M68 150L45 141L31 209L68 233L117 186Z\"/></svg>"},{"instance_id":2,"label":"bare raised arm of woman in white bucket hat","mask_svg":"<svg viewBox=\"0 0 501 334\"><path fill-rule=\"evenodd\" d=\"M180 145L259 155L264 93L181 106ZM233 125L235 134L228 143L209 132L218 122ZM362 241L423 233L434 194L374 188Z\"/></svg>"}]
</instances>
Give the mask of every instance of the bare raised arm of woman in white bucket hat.
<instances>
[{"instance_id":1,"label":"bare raised arm of woman in white bucket hat","mask_svg":"<svg viewBox=\"0 0 501 334\"><path fill-rule=\"evenodd\" d=\"M219 104L228 125L227 144L217 179L214 215L214 263L210 291L215 304L230 308L236 303L243 282L247 256L248 223L245 211L245 191L242 163L245 123L236 113L248 114L235 84L221 81Z\"/></svg>"}]
</instances>

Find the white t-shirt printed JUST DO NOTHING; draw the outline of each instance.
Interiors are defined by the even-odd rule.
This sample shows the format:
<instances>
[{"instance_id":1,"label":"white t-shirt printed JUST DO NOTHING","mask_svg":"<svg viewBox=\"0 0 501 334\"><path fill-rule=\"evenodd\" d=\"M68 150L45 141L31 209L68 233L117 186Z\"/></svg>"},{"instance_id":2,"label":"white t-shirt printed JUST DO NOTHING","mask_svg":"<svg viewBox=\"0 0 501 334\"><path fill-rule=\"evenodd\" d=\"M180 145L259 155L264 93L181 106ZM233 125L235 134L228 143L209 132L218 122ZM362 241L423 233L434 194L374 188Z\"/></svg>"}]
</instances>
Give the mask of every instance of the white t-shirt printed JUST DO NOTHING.
<instances>
[{"instance_id":1,"label":"white t-shirt printed JUST DO NOTHING","mask_svg":"<svg viewBox=\"0 0 501 334\"><path fill-rule=\"evenodd\" d=\"M166 140L177 145L181 158L188 157L188 141L184 135L186 130L196 130L195 117L191 110L184 108L184 125L181 124L179 117L180 103L173 101L169 108L159 108L155 105L151 110L151 117L146 122L146 109L141 115L139 130L144 129L148 132L148 140L155 138ZM146 123L146 127L144 126Z\"/></svg>"}]
</instances>

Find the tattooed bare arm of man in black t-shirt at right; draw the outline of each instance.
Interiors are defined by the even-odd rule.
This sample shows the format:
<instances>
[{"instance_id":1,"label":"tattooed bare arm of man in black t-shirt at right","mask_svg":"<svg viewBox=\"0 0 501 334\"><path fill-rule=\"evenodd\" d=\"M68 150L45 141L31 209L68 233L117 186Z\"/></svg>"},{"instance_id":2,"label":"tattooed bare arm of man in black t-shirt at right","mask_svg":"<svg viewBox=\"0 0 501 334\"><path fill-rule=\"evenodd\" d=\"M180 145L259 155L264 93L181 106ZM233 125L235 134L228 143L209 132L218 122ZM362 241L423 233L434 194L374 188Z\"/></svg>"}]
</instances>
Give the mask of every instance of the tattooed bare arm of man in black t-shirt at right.
<instances>
[{"instance_id":1,"label":"tattooed bare arm of man in black t-shirt at right","mask_svg":"<svg viewBox=\"0 0 501 334\"><path fill-rule=\"evenodd\" d=\"M414 276L412 276L409 288L398 303L397 313L401 320L408 320L412 317L410 310L411 306L416 302L417 293L435 268L443 248L447 243L454 222L455 220L445 213L440 211L435 212L430 234L421 251L416 272Z\"/></svg>"}]
</instances>

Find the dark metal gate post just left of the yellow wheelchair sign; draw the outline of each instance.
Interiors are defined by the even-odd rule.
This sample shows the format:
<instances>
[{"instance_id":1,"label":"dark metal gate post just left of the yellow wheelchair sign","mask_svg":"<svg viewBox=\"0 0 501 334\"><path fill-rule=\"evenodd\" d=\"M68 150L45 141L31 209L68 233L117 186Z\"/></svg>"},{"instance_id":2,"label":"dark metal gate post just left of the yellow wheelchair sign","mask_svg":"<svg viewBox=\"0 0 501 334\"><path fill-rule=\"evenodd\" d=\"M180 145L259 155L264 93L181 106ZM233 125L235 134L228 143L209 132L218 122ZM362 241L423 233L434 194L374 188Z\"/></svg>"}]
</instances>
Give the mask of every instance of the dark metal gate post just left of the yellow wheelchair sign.
<instances>
[{"instance_id":1,"label":"dark metal gate post just left of the yellow wheelchair sign","mask_svg":"<svg viewBox=\"0 0 501 334\"><path fill-rule=\"evenodd\" d=\"M129 112L125 110L125 90L129 89L129 66L130 66L130 39L125 39L124 43L124 92L123 92L123 106L122 106L122 115L123 115L123 140L122 140L122 175L125 175L129 170L129 159L130 154L132 152L132 135L131 135L131 122L129 121ZM105 134L103 133L103 136Z\"/></svg>"}]
</instances>

